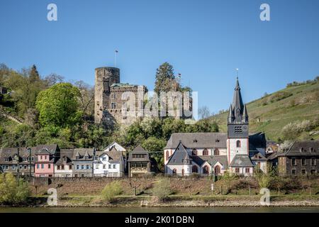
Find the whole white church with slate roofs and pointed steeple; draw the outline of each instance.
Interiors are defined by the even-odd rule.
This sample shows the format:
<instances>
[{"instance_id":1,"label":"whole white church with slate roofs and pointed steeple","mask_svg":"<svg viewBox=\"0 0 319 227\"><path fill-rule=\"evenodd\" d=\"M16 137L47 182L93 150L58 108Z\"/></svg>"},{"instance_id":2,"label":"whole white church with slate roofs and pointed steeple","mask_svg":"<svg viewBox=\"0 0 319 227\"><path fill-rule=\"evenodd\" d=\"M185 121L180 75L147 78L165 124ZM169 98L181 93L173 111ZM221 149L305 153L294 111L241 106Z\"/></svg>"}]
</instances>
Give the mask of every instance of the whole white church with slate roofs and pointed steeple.
<instances>
[{"instance_id":1,"label":"whole white church with slate roofs and pointed steeple","mask_svg":"<svg viewBox=\"0 0 319 227\"><path fill-rule=\"evenodd\" d=\"M236 81L228 112L227 133L173 133L164 148L166 175L253 175L267 171L264 133L249 133L248 113Z\"/></svg>"}]
</instances>

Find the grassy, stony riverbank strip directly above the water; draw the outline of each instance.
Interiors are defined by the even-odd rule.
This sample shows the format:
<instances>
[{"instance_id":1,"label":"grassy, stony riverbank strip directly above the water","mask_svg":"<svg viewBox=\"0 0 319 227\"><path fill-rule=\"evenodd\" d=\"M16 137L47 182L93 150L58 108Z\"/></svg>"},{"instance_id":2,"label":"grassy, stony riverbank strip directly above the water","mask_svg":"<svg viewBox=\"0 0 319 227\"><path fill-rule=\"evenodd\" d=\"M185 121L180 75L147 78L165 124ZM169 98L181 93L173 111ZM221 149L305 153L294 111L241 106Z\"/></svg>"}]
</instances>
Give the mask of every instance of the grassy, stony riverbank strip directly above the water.
<instances>
[{"instance_id":1,"label":"grassy, stony riverbank strip directly above the water","mask_svg":"<svg viewBox=\"0 0 319 227\"><path fill-rule=\"evenodd\" d=\"M56 206L47 204L47 197L33 197L21 207L262 207L260 196L169 196L158 201L156 196L118 196L112 203L99 196L64 196ZM271 207L318 207L319 196L271 196ZM2 206L12 207L12 206ZM18 207L18 206L17 206Z\"/></svg>"}]
</instances>

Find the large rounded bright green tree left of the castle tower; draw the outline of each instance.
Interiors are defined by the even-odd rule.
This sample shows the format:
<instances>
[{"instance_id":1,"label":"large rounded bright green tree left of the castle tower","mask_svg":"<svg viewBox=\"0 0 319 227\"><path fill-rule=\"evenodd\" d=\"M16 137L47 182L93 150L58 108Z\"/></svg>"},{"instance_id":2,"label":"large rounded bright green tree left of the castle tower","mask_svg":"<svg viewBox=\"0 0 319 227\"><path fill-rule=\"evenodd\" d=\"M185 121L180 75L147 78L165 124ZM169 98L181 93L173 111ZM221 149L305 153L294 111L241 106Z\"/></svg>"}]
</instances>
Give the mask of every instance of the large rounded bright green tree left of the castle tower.
<instances>
[{"instance_id":1,"label":"large rounded bright green tree left of the castle tower","mask_svg":"<svg viewBox=\"0 0 319 227\"><path fill-rule=\"evenodd\" d=\"M38 95L36 108L42 126L65 128L81 121L79 89L69 83L55 84Z\"/></svg>"}]
</instances>

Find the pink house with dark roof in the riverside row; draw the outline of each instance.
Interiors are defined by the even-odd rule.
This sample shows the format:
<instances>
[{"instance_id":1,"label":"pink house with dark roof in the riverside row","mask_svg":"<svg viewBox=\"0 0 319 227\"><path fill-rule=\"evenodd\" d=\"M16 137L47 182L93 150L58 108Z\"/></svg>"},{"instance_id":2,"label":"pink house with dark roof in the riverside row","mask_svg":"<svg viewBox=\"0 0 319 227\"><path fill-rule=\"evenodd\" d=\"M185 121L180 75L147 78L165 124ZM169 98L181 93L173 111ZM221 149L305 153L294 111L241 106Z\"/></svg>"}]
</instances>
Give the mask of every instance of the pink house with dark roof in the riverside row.
<instances>
[{"instance_id":1,"label":"pink house with dark roof in the riverside row","mask_svg":"<svg viewBox=\"0 0 319 227\"><path fill-rule=\"evenodd\" d=\"M59 148L57 145L50 145L42 148L36 153L35 177L54 177L55 175L55 157Z\"/></svg>"}]
</instances>

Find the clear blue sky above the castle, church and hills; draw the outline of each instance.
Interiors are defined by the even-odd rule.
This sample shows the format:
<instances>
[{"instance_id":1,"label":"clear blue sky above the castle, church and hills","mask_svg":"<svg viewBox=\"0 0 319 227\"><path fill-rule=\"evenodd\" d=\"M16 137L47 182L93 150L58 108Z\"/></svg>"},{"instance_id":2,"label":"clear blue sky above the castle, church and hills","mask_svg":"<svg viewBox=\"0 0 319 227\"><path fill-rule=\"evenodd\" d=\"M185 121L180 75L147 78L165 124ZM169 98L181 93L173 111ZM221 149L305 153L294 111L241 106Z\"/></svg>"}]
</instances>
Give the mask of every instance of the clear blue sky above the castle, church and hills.
<instances>
[{"instance_id":1,"label":"clear blue sky above the castle, church and hills","mask_svg":"<svg viewBox=\"0 0 319 227\"><path fill-rule=\"evenodd\" d=\"M58 21L47 21L47 4ZM260 21L259 6L271 21ZM0 62L37 65L94 84L114 65L121 81L152 90L163 62L198 92L199 106L228 109L239 68L244 102L319 75L319 1L0 0Z\"/></svg>"}]
</instances>

